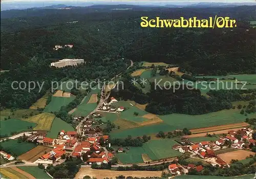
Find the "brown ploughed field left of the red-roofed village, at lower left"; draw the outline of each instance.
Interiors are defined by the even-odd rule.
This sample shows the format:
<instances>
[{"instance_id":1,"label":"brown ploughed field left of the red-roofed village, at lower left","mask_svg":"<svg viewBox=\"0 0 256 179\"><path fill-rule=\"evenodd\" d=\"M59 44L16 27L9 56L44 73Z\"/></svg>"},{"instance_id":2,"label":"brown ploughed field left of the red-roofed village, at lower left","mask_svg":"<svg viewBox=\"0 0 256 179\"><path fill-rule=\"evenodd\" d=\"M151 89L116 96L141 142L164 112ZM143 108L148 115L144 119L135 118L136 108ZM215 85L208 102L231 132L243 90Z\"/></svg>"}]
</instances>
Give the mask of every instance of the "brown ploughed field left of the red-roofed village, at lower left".
<instances>
[{"instance_id":1,"label":"brown ploughed field left of the red-roofed village, at lower left","mask_svg":"<svg viewBox=\"0 0 256 179\"><path fill-rule=\"evenodd\" d=\"M52 148L38 145L37 147L27 151L26 153L18 156L18 159L22 159L28 162L35 162L41 155L44 155L45 152L51 151Z\"/></svg>"}]
</instances>

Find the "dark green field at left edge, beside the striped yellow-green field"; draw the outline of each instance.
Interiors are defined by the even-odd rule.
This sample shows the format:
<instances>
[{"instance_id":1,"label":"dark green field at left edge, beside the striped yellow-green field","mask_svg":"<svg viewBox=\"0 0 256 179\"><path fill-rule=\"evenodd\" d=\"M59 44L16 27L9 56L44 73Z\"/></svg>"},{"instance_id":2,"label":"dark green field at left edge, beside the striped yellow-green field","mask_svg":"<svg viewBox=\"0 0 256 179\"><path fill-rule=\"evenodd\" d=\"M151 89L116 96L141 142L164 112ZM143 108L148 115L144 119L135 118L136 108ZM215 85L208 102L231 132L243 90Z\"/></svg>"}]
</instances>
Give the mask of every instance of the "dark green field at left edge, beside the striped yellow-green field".
<instances>
[{"instance_id":1,"label":"dark green field at left edge, beside the striped yellow-green field","mask_svg":"<svg viewBox=\"0 0 256 179\"><path fill-rule=\"evenodd\" d=\"M3 135L11 135L11 132L21 132L25 130L29 130L28 127L32 126L33 128L36 126L36 123L28 122L28 121L23 121L19 119L7 119L1 120L0 121L0 132L1 136Z\"/></svg>"}]
</instances>

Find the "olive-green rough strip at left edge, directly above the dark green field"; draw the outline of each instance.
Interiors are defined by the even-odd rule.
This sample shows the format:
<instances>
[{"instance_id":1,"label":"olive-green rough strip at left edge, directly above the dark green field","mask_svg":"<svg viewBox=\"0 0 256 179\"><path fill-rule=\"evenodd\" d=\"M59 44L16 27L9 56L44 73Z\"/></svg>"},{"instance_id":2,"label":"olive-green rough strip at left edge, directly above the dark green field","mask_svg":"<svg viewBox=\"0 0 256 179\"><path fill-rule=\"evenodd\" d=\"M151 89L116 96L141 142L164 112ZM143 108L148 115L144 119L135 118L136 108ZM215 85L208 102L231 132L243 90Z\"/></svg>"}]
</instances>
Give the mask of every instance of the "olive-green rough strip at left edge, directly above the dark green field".
<instances>
[{"instance_id":1,"label":"olive-green rough strip at left edge, directly above the dark green field","mask_svg":"<svg viewBox=\"0 0 256 179\"><path fill-rule=\"evenodd\" d=\"M24 119L24 116L26 115L28 117L30 117L30 114L32 114L33 116L38 115L39 111L35 109L14 109L11 112L11 109L4 109L0 111L0 114L1 114L1 120L4 120L5 117L8 118L8 116L15 119Z\"/></svg>"}]
</instances>

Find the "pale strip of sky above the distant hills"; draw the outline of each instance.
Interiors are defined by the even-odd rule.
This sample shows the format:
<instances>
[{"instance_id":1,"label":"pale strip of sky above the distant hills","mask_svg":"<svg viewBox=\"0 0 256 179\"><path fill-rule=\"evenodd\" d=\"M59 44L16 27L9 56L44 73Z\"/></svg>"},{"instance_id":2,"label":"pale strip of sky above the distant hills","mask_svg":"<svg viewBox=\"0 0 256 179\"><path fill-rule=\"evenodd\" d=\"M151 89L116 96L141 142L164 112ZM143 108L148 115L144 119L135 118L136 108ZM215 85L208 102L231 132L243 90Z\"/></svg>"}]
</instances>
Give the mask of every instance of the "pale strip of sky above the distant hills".
<instances>
[{"instance_id":1,"label":"pale strip of sky above the distant hills","mask_svg":"<svg viewBox=\"0 0 256 179\"><path fill-rule=\"evenodd\" d=\"M34 8L34 7L45 7L45 6L51 6L51 5L57 5L57 4L65 4L70 6L92 6L95 4L111 4L111 5L117 5L117 4L129 4L129 5L190 5L190 4L197 4L197 3L255 3L255 0L170 0L170 1L119 1L119 0L112 0L112 1L87 1L87 0L75 0L75 1L68 1L68 0L2 0L1 1L1 11L3 10L10 10L10 9L27 9L27 8Z\"/></svg>"}]
</instances>

